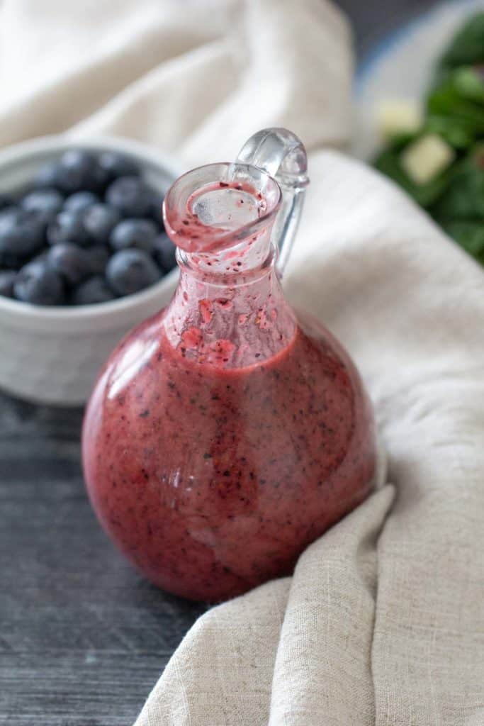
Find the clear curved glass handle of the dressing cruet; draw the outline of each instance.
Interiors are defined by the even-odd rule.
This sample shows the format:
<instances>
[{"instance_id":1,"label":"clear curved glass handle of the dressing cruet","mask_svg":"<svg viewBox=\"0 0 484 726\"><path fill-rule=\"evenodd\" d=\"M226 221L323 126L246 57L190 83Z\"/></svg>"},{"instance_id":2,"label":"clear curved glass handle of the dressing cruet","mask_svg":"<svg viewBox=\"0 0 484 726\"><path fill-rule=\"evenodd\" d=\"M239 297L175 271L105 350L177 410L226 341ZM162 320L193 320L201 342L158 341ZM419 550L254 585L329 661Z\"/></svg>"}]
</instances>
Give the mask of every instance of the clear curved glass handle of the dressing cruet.
<instances>
[{"instance_id":1,"label":"clear curved glass handle of the dressing cruet","mask_svg":"<svg viewBox=\"0 0 484 726\"><path fill-rule=\"evenodd\" d=\"M309 184L308 158L303 142L287 129L263 129L250 136L239 152L237 163L250 164L276 179L282 201L273 228L278 250L276 268L282 275L290 256Z\"/></svg>"}]
</instances>

